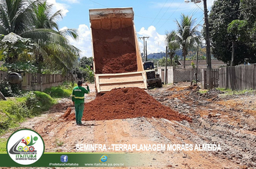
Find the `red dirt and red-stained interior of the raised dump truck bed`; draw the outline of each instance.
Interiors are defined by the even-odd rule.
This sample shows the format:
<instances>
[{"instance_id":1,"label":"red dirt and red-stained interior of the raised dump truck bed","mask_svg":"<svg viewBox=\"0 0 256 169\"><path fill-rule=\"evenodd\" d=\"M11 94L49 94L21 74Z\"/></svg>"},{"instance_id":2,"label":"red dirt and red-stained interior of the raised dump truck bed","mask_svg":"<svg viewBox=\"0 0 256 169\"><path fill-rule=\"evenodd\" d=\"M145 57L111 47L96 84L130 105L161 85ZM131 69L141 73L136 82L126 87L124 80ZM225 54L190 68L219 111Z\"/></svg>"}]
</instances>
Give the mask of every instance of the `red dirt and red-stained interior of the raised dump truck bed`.
<instances>
[{"instance_id":1,"label":"red dirt and red-stained interior of the raised dump truck bed","mask_svg":"<svg viewBox=\"0 0 256 169\"><path fill-rule=\"evenodd\" d=\"M137 71L133 26L120 29L92 29L96 74Z\"/></svg>"}]
</instances>

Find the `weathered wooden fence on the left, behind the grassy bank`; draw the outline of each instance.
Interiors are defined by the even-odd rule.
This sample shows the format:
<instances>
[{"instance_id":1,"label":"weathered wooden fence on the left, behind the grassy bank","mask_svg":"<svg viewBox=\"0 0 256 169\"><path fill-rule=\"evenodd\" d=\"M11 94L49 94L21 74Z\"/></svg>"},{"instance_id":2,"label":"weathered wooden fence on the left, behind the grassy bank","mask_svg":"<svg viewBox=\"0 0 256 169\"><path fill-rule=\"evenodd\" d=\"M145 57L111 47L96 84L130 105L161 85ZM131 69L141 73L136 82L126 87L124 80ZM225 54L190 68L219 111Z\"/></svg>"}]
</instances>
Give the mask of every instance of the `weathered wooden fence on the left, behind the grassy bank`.
<instances>
[{"instance_id":1,"label":"weathered wooden fence on the left, behind the grassy bank","mask_svg":"<svg viewBox=\"0 0 256 169\"><path fill-rule=\"evenodd\" d=\"M5 81L8 72L0 71L0 82ZM62 74L30 74L22 73L22 90L45 90L46 88L58 86L65 81L76 80L76 75L63 76Z\"/></svg>"}]
</instances>

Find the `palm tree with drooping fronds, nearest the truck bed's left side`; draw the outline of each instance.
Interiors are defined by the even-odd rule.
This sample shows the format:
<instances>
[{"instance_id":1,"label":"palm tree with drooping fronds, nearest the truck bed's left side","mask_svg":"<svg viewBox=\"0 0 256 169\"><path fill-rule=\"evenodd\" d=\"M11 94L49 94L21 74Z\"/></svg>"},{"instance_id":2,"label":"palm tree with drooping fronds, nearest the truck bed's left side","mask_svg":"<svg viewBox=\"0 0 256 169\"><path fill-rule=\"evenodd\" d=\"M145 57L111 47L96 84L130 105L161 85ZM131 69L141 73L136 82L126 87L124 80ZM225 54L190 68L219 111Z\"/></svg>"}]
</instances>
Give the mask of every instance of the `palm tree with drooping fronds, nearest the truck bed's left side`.
<instances>
[{"instance_id":1,"label":"palm tree with drooping fronds, nearest the truck bed's left side","mask_svg":"<svg viewBox=\"0 0 256 169\"><path fill-rule=\"evenodd\" d=\"M58 19L62 17L61 11L52 13L52 4L47 4L46 1L35 6L35 29L45 29L45 31L55 34L55 37L59 37L59 41L56 43L48 43L42 46L42 49L50 55L39 54L38 64L42 67L42 61L48 60L48 63L54 65L53 67L63 68L67 72L73 68L75 62L77 62L80 50L69 44L67 38L72 37L73 39L78 38L76 29L64 29L59 30ZM57 36L56 36L57 35ZM35 39L36 40L36 39Z\"/></svg>"}]
</instances>

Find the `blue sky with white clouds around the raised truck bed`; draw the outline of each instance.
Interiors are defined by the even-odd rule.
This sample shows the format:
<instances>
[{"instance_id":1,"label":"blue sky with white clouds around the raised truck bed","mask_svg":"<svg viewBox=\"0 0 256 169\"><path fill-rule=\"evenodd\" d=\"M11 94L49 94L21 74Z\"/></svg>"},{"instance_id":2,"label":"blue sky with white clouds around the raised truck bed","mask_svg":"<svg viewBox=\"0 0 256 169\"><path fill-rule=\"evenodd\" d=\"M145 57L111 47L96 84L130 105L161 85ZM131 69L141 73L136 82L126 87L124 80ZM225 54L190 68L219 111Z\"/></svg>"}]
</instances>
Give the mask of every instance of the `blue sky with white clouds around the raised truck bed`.
<instances>
[{"instance_id":1,"label":"blue sky with white clouds around the raised truck bed","mask_svg":"<svg viewBox=\"0 0 256 169\"><path fill-rule=\"evenodd\" d=\"M137 37L147 36L147 53L165 52L165 32L176 29L175 19L180 14L193 16L195 24L204 24L204 4L185 3L183 0L47 0L54 10L62 10L63 19L58 21L61 29L78 29L79 40L70 43L81 49L81 57L91 57L91 30L88 9L132 7ZM214 0L208 0L209 10ZM200 28L201 29L201 28ZM139 40L140 50L143 42Z\"/></svg>"}]
</instances>

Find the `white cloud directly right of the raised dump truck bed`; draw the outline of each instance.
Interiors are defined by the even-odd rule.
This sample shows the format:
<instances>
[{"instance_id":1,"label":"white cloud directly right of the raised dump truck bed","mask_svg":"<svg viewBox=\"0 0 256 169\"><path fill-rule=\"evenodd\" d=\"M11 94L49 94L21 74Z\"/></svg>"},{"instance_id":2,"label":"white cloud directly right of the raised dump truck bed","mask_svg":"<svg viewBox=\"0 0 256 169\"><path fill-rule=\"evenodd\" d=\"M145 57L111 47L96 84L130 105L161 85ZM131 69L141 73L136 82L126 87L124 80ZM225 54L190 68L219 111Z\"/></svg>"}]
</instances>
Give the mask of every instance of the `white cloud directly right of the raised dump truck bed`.
<instances>
[{"instance_id":1,"label":"white cloud directly right of the raised dump truck bed","mask_svg":"<svg viewBox=\"0 0 256 169\"><path fill-rule=\"evenodd\" d=\"M147 54L165 52L165 35L158 34L155 26L149 26L147 29L142 27L140 32L137 32L138 37L150 37L147 40ZM143 52L143 40L139 39L140 52Z\"/></svg>"}]
</instances>

